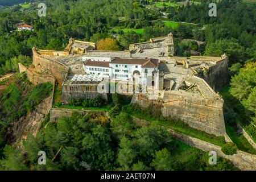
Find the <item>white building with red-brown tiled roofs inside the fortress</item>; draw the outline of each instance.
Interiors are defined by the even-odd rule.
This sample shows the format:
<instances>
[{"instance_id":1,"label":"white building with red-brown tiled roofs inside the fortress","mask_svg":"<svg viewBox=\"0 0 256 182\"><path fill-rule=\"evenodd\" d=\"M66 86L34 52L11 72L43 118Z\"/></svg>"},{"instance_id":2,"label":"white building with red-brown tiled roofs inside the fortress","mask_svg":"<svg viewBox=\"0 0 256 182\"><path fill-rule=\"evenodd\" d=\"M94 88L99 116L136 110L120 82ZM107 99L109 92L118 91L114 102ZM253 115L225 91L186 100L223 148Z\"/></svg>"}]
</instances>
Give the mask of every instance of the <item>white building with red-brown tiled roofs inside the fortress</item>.
<instances>
[{"instance_id":1,"label":"white building with red-brown tiled roofs inside the fortress","mask_svg":"<svg viewBox=\"0 0 256 182\"><path fill-rule=\"evenodd\" d=\"M110 57L83 57L84 70L91 75L116 78L117 80L130 80L134 76L146 78L158 71L157 59L121 59ZM102 61L103 60L103 61Z\"/></svg>"}]
</instances>

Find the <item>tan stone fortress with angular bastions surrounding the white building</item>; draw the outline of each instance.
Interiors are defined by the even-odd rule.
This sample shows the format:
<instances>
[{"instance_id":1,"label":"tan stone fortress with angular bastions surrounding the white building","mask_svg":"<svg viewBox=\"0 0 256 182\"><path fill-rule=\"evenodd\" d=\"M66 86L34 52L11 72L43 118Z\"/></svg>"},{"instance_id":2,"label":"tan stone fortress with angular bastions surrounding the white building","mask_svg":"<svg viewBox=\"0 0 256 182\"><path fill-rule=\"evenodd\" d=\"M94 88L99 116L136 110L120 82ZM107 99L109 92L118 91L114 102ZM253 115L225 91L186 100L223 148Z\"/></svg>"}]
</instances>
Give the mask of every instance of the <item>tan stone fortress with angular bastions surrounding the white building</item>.
<instances>
[{"instance_id":1,"label":"tan stone fortress with angular bastions surrounding the white building","mask_svg":"<svg viewBox=\"0 0 256 182\"><path fill-rule=\"evenodd\" d=\"M122 60L126 61L123 64L137 64L137 60L147 60L142 61L141 65L153 65L152 76L157 73L158 77L151 88L147 89L147 93L132 93L133 103L143 107L154 105L163 116L180 118L189 126L210 134L218 136L226 134L223 116L224 101L216 93L228 82L226 55L175 57L172 34L152 38L149 42L131 44L126 51L100 51L97 50L95 43L74 39L69 40L64 51L36 48L32 51L34 71L55 77L62 88L63 103L72 98L93 98L99 94L107 100L106 94L97 92L101 77L92 75L92 72L86 72L83 57L91 57L86 61L94 61L93 65L98 65L98 60L102 61L106 58L104 65L108 68L112 60L118 60L118 63L113 62L118 65L122 64L120 62ZM92 57L94 57L93 60ZM150 60L156 60L157 63L153 61L151 64ZM137 71L136 75L143 76L143 71L133 70L132 78L134 71ZM109 79L115 76L116 74L113 73L109 75ZM155 90L158 94L154 94ZM151 97L152 94L154 97Z\"/></svg>"}]
</instances>

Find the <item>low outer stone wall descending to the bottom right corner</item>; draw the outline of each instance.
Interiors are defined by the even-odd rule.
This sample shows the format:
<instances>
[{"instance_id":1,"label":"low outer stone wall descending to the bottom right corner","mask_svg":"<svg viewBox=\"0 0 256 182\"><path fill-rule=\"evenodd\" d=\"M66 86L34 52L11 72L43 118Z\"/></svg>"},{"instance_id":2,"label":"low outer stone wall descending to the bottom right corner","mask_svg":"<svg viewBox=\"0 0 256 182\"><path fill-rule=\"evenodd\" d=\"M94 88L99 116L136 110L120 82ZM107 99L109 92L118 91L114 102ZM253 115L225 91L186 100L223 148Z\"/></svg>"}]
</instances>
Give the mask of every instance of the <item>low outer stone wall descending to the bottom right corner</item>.
<instances>
[{"instance_id":1,"label":"low outer stone wall descending to the bottom right corner","mask_svg":"<svg viewBox=\"0 0 256 182\"><path fill-rule=\"evenodd\" d=\"M241 170L248 170L248 171L255 171L256 170L256 156L252 154L248 154L246 152L237 151L237 154L234 155L225 155L221 151L220 146L216 146L212 143L205 142L203 140L190 137L188 135L179 133L177 131L168 129L168 131L177 139L179 139L181 142L185 144L189 144L189 146L199 148L200 150L203 150L205 152L209 151L215 151L218 156L221 156L222 158L226 158L230 160L234 166ZM218 160L217 160L218 162Z\"/></svg>"}]
</instances>

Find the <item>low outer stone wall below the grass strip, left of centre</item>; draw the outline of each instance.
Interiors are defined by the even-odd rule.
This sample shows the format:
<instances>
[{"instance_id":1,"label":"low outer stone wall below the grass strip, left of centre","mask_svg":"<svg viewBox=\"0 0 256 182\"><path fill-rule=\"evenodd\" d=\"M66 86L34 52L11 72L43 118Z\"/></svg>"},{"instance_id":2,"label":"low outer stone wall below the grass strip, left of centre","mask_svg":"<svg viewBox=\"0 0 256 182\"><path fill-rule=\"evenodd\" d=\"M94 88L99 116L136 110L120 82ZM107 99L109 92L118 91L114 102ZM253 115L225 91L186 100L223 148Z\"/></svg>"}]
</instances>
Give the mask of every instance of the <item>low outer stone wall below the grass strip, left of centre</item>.
<instances>
[{"instance_id":1,"label":"low outer stone wall below the grass strip, left of centre","mask_svg":"<svg viewBox=\"0 0 256 182\"><path fill-rule=\"evenodd\" d=\"M97 114L97 115L104 115L108 117L105 111L52 108L50 113L50 121L56 122L58 119L61 119L62 117L69 117L72 115L74 111L78 112L82 116L84 116L85 114Z\"/></svg>"}]
</instances>

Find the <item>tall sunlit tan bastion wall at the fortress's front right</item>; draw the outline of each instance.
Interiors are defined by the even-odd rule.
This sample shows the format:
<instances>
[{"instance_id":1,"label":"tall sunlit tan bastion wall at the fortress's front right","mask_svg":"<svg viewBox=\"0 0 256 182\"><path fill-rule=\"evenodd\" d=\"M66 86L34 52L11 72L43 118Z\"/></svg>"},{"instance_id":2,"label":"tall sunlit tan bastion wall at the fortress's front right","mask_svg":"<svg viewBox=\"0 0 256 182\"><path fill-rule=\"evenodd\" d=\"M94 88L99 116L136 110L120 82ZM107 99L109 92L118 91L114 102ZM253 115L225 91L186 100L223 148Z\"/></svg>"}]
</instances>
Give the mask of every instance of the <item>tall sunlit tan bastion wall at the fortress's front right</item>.
<instances>
[{"instance_id":1,"label":"tall sunlit tan bastion wall at the fortress's front right","mask_svg":"<svg viewBox=\"0 0 256 182\"><path fill-rule=\"evenodd\" d=\"M142 94L133 96L132 103L137 103L142 107L150 104L156 105L161 110L164 117L170 116L179 118L189 126L217 136L226 133L224 115L222 111L223 100L196 99L188 96L171 94L168 101L148 100Z\"/></svg>"}]
</instances>

